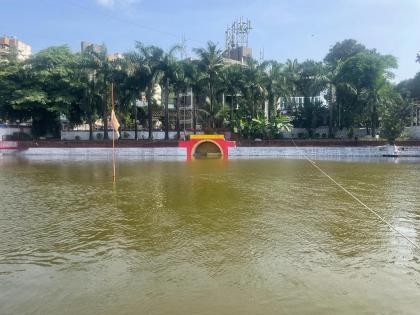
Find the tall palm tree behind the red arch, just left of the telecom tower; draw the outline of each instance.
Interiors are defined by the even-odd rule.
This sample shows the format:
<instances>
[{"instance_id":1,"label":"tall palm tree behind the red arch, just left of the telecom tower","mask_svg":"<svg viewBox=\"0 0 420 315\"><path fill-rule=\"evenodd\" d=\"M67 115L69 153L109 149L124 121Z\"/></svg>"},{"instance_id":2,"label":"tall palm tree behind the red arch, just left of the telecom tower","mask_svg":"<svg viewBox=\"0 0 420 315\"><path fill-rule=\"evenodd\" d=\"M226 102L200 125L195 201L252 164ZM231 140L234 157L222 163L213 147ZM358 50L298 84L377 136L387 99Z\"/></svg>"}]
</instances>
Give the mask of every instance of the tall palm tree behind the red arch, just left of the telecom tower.
<instances>
[{"instance_id":1,"label":"tall palm tree behind the red arch, just left of the telecom tower","mask_svg":"<svg viewBox=\"0 0 420 315\"><path fill-rule=\"evenodd\" d=\"M205 78L208 84L208 96L210 99L210 125L215 128L215 99L216 91L215 87L217 82L220 80L220 72L224 67L223 51L217 48L217 45L213 42L208 42L206 48L198 48L194 50L200 58L199 67L205 74Z\"/></svg>"}]
</instances>

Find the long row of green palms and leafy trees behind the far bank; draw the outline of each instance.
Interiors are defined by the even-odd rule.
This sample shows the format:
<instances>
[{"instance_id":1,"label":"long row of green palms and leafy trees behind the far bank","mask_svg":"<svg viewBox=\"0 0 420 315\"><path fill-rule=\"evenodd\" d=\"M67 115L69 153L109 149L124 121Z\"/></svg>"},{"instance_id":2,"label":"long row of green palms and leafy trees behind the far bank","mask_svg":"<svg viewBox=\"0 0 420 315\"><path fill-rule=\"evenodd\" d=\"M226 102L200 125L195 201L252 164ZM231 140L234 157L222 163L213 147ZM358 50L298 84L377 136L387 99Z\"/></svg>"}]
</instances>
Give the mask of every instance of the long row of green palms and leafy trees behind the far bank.
<instances>
[{"instance_id":1,"label":"long row of green palms and leafy trees behind the far bank","mask_svg":"<svg viewBox=\"0 0 420 315\"><path fill-rule=\"evenodd\" d=\"M239 64L228 62L212 42L194 49L195 59L177 58L179 50L136 42L122 58L109 58L105 48L73 53L67 46L49 47L26 61L10 54L0 62L0 119L31 121L33 134L42 136L59 135L60 119L66 117L72 126L88 124L90 139L101 119L108 139L113 84L117 116L136 138L140 123L152 139L156 110L163 113L165 138L170 129L179 135L181 99L192 92L192 132L200 122L209 131L270 139L292 126L309 135L328 126L332 138L342 128L363 127L372 136L381 130L392 141L410 123L411 106L420 98L420 74L394 84L396 58L352 39L336 43L323 61L248 58ZM153 97L158 85L160 105ZM136 105L140 98L145 109Z\"/></svg>"}]
</instances>

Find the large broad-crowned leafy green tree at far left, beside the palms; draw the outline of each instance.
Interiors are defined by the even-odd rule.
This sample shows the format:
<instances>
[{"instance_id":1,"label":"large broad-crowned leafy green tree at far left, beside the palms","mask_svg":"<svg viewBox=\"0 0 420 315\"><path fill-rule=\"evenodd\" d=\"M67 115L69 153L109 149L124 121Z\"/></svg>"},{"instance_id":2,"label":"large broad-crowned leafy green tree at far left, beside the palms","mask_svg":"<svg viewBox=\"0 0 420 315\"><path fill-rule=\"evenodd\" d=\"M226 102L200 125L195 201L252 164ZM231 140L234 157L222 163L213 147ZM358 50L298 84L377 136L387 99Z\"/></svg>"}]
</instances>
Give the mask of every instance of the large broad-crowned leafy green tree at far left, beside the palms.
<instances>
[{"instance_id":1,"label":"large broad-crowned leafy green tree at far left, beside the palms","mask_svg":"<svg viewBox=\"0 0 420 315\"><path fill-rule=\"evenodd\" d=\"M67 46L50 47L24 63L9 64L8 83L2 89L7 93L7 87L13 88L5 100L9 117L30 117L35 136L58 137L60 115L69 116L72 104L77 102L76 65L75 55Z\"/></svg>"}]
</instances>

